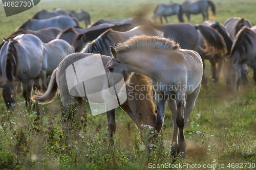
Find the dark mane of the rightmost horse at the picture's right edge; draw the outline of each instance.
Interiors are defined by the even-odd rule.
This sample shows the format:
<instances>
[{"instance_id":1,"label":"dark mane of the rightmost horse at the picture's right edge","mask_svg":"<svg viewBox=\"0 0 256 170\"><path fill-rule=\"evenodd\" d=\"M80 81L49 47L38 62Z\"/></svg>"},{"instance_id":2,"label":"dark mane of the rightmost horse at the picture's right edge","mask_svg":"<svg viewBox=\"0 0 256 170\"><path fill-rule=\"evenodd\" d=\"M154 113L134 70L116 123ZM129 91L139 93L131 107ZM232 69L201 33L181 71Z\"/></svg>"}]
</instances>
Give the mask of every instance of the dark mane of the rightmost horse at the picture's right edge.
<instances>
[{"instance_id":1,"label":"dark mane of the rightmost horse at the picture's right edge","mask_svg":"<svg viewBox=\"0 0 256 170\"><path fill-rule=\"evenodd\" d=\"M240 63L243 59L245 59L245 55L249 51L248 44L252 45L251 37L256 38L256 33L252 31L250 28L244 26L236 35L237 39L233 42L233 46L231 49L231 57L235 52L239 52L239 56L236 58L232 58L234 63Z\"/></svg>"}]
</instances>

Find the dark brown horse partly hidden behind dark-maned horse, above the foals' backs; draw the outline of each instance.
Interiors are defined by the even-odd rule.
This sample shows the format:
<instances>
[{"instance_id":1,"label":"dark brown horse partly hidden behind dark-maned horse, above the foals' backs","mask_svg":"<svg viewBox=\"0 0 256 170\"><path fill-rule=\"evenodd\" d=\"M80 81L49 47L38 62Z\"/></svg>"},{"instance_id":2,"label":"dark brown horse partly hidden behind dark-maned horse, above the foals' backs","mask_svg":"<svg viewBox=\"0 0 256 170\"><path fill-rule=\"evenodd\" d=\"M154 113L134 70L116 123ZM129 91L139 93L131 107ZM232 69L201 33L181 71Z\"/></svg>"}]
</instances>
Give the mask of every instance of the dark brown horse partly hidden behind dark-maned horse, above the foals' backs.
<instances>
[{"instance_id":1,"label":"dark brown horse partly hidden behind dark-maned horse, above the foals' backs","mask_svg":"<svg viewBox=\"0 0 256 170\"><path fill-rule=\"evenodd\" d=\"M106 24L109 25L109 23L101 23L98 26L106 25ZM119 31L119 32L125 32L136 27L136 25L134 25L133 23L122 23L119 25L110 25L108 27L102 27L102 28L97 28L98 26L90 27L89 28L90 30L88 30L87 32L78 34L75 37L75 40L73 42L75 52L80 52L84 47L84 45L86 45L88 42L95 40L100 34L102 34L103 32L109 29Z\"/></svg>"}]
</instances>

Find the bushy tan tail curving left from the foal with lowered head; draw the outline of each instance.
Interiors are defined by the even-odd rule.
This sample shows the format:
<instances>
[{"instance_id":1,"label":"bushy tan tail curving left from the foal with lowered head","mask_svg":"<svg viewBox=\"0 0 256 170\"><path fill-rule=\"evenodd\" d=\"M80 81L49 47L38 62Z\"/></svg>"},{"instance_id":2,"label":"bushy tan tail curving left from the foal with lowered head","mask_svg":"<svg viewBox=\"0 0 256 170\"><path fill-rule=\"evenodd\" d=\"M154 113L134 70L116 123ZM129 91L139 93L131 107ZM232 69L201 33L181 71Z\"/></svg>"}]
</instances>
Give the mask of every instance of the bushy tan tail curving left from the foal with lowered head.
<instances>
[{"instance_id":1,"label":"bushy tan tail curving left from the foal with lowered head","mask_svg":"<svg viewBox=\"0 0 256 170\"><path fill-rule=\"evenodd\" d=\"M57 69L58 67L53 71L47 91L44 94L40 93L38 90L35 91L35 94L31 97L32 101L38 101L39 104L48 104L56 98L58 94L58 85L56 82Z\"/></svg>"}]
</instances>

